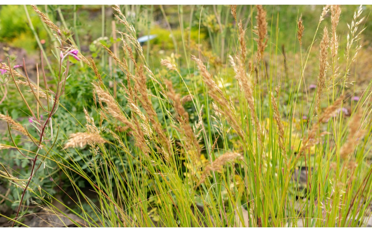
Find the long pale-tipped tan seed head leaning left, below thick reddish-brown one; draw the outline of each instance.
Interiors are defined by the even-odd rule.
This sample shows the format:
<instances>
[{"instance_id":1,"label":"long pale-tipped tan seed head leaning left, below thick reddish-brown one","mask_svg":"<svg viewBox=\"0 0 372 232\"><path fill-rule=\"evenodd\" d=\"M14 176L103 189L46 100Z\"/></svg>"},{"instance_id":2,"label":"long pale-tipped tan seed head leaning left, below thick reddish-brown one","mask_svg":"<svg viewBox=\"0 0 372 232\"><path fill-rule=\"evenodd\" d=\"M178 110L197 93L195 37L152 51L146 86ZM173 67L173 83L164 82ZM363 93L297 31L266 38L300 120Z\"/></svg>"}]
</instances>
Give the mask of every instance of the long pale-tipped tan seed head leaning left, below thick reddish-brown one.
<instances>
[{"instance_id":1,"label":"long pale-tipped tan seed head leaning left, below thick reddish-brown one","mask_svg":"<svg viewBox=\"0 0 372 232\"><path fill-rule=\"evenodd\" d=\"M248 78L246 70L244 69L244 64L241 62L240 59L237 59L238 63L235 64L232 56L229 56L229 58L232 68L234 68L235 79L237 79L240 88L244 92L244 97L247 100L248 108L251 114L251 120L256 125L257 138L259 140L259 143L262 145L261 127L254 107L253 88L250 82L250 78Z\"/></svg>"}]
</instances>

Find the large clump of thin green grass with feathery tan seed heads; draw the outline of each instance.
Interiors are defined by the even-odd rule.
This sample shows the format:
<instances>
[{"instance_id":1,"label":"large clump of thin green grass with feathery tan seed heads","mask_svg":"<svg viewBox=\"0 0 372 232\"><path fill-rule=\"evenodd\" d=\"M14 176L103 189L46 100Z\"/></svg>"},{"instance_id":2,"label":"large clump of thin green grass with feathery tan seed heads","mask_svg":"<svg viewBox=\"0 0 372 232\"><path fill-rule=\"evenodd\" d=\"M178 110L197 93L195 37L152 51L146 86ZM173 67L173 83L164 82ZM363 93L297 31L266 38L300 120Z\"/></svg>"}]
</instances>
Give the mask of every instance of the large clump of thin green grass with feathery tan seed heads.
<instances>
[{"instance_id":1,"label":"large clump of thin green grass with feathery tan seed heads","mask_svg":"<svg viewBox=\"0 0 372 232\"><path fill-rule=\"evenodd\" d=\"M209 18L219 22L211 41L224 46L214 47L220 53L210 57L199 42L197 52L189 52L192 43L183 33L179 9L179 54L157 57L145 52L150 43L138 42L136 27L123 13L127 9L113 6L119 23L113 33L120 35L121 50L102 44L107 56L97 59L107 59L107 68L78 51L70 34L33 6L54 33L61 56L56 56L59 71L50 78L56 85L44 78L43 88L39 76L36 85L30 82L26 69L23 75L13 73L10 63L0 66L11 75L36 129L1 114L12 144L0 149L15 148L32 164L31 174L1 165L0 177L22 193L13 226L22 225L26 192L34 205L76 226L365 226L372 200L372 82L353 87L350 82L357 81L351 67L362 49L363 8L354 14L346 47L337 31L342 7L323 8L310 45L304 34L311 25L304 15L298 17L293 27L299 51L294 52L280 49L279 26L273 27L278 19L270 22L268 8L250 7L256 26L244 24L241 7L208 9L214 12ZM163 7L161 12L165 15ZM325 25L329 12L331 32ZM223 28L221 16L235 28ZM226 59L213 62L216 55ZM150 66L149 60L161 66ZM71 69L70 61L76 62ZM78 112L85 120L64 108L68 73L91 76L86 101L93 104ZM23 79L36 104L23 97L26 91L18 87ZM308 88L311 81L317 84ZM356 101L357 91L362 94ZM75 127L59 129L68 114ZM11 127L35 148L18 147ZM42 166L65 178L69 191L52 180L73 202L58 200L64 210L38 185L34 174Z\"/></svg>"}]
</instances>

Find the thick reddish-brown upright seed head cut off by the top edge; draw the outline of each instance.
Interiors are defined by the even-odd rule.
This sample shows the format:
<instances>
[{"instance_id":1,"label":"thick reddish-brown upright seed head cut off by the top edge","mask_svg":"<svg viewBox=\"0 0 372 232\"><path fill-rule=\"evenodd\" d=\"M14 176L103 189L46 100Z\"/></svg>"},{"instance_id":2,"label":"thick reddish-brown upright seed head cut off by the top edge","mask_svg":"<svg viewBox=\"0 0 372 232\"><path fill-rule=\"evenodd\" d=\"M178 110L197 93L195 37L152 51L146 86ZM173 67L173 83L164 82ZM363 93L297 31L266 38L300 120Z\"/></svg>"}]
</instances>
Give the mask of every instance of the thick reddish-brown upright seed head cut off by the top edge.
<instances>
[{"instance_id":1,"label":"thick reddish-brown upright seed head cut off by the top edge","mask_svg":"<svg viewBox=\"0 0 372 232\"><path fill-rule=\"evenodd\" d=\"M267 22L266 22L266 11L263 9L262 5L257 5L257 25L254 32L258 35L255 39L257 42L257 61L262 60L263 51L267 45ZM266 40L265 40L266 39Z\"/></svg>"}]
</instances>

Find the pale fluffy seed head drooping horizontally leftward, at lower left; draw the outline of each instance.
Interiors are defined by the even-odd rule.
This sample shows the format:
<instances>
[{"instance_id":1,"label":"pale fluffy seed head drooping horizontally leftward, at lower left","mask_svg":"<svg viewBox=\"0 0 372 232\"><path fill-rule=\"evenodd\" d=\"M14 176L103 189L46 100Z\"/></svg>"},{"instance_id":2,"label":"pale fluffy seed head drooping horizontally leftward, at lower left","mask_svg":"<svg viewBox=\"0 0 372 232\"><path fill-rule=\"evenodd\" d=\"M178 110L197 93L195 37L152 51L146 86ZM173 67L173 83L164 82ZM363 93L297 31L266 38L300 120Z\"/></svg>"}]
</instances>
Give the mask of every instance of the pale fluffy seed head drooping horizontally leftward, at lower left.
<instances>
[{"instance_id":1,"label":"pale fluffy seed head drooping horizontally leftward, at lower left","mask_svg":"<svg viewBox=\"0 0 372 232\"><path fill-rule=\"evenodd\" d=\"M70 139L64 146L64 149L69 147L84 147L87 144L107 143L107 141L99 134L78 132L70 134Z\"/></svg>"}]
</instances>

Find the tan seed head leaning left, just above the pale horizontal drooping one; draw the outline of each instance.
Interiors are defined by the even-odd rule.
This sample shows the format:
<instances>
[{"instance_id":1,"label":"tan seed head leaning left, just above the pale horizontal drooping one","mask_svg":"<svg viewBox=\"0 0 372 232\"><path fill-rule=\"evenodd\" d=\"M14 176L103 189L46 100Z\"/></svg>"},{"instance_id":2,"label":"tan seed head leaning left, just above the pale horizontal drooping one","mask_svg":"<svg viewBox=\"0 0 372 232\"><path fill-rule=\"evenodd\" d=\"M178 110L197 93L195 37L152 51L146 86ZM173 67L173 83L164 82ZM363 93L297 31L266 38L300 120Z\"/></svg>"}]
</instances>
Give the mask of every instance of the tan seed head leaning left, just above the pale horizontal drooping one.
<instances>
[{"instance_id":1,"label":"tan seed head leaning left, just above the pale horizontal drooping one","mask_svg":"<svg viewBox=\"0 0 372 232\"><path fill-rule=\"evenodd\" d=\"M98 98L100 102L105 102L107 107L105 108L106 111L113 117L119 120L120 122L124 123L126 126L134 130L133 124L124 116L124 114L119 109L118 104L116 103L115 99L105 90L103 90L99 84L94 83L94 89L97 92ZM102 104L101 104L102 107ZM102 109L104 109L102 107Z\"/></svg>"}]
</instances>

